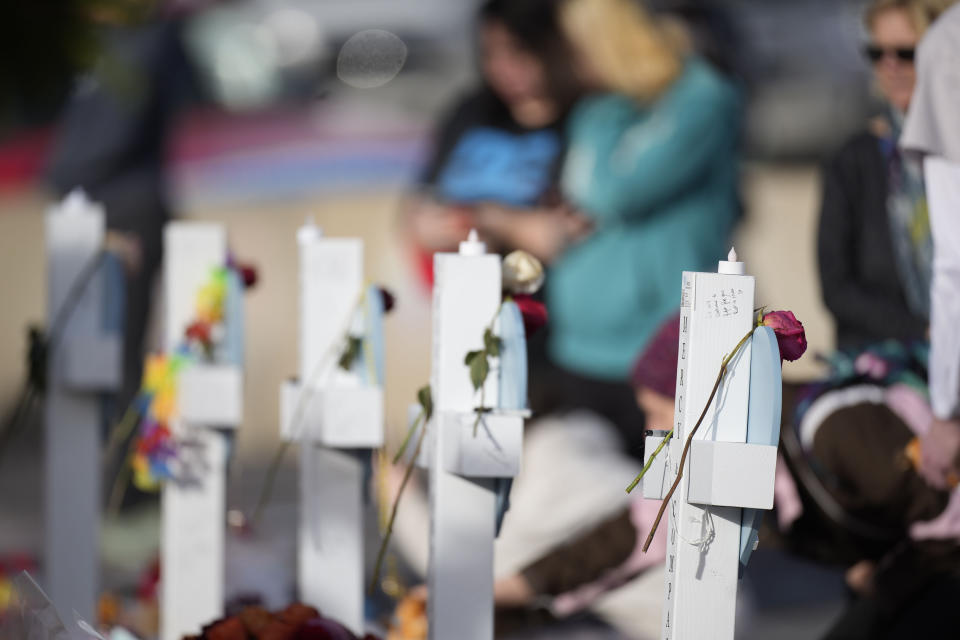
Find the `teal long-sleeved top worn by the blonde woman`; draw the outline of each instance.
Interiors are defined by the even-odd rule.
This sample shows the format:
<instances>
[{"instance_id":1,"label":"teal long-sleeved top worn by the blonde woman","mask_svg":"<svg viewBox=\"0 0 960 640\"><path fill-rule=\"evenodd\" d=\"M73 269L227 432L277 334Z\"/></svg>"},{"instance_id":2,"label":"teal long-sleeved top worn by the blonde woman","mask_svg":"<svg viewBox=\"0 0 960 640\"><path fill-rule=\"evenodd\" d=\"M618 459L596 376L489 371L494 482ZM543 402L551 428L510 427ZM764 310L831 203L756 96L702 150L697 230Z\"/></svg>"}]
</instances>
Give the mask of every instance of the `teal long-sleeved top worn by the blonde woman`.
<instances>
[{"instance_id":1,"label":"teal long-sleeved top worn by the blonde woman","mask_svg":"<svg viewBox=\"0 0 960 640\"><path fill-rule=\"evenodd\" d=\"M740 211L739 114L733 85L696 57L653 103L608 93L575 108L562 185L592 232L547 283L557 364L626 380L676 311L681 272L726 255Z\"/></svg>"}]
</instances>

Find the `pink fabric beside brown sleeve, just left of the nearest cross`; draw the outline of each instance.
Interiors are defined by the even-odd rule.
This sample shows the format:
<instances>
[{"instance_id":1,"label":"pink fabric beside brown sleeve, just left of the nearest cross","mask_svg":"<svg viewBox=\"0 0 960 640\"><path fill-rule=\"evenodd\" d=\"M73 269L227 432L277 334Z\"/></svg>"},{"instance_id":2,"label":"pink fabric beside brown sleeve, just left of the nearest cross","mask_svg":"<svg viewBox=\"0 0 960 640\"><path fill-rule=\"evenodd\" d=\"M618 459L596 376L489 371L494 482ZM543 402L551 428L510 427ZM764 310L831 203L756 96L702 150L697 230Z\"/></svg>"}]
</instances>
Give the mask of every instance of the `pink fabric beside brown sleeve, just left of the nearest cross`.
<instances>
[{"instance_id":1,"label":"pink fabric beside brown sleeve, just left of the nearest cross","mask_svg":"<svg viewBox=\"0 0 960 640\"><path fill-rule=\"evenodd\" d=\"M573 591L562 593L553 600L553 612L557 616L568 616L590 606L601 595L629 582L639 573L658 564L667 557L667 518L664 516L653 536L650 549L643 552L643 543L653 527L653 521L660 510L660 500L636 498L630 503L630 521L637 529L637 545L633 553L619 567L611 569L604 576L585 584Z\"/></svg>"}]
</instances>

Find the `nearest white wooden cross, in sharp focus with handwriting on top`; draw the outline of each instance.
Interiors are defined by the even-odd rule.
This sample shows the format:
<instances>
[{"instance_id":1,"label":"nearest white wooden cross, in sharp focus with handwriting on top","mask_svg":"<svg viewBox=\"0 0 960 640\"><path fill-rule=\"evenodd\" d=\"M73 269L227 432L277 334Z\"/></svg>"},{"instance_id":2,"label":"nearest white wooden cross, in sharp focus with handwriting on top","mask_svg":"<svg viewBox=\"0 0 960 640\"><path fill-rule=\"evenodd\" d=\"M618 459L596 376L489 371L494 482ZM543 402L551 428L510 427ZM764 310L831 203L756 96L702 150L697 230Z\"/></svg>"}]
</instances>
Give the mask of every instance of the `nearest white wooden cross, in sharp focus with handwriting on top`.
<instances>
[{"instance_id":1,"label":"nearest white wooden cross, in sharp focus with handwriting on top","mask_svg":"<svg viewBox=\"0 0 960 640\"><path fill-rule=\"evenodd\" d=\"M755 321L754 279L735 252L718 271L683 274L675 435L644 478L647 498L662 498L673 483L724 356ZM667 509L664 640L734 637L756 510L773 506L779 428L779 351L772 331L760 328L731 361ZM648 457L661 440L647 438Z\"/></svg>"}]
</instances>

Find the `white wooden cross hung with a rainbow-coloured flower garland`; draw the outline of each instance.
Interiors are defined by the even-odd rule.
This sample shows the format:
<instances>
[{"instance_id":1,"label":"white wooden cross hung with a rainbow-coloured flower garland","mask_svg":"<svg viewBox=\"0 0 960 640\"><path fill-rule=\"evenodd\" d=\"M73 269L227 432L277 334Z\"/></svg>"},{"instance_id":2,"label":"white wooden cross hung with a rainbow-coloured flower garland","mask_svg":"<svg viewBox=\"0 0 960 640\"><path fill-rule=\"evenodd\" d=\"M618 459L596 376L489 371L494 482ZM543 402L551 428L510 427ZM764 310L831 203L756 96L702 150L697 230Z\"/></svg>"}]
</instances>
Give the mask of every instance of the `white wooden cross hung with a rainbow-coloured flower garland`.
<instances>
[{"instance_id":1,"label":"white wooden cross hung with a rainbow-coloured flower garland","mask_svg":"<svg viewBox=\"0 0 960 640\"><path fill-rule=\"evenodd\" d=\"M194 319L197 292L227 263L221 225L172 222L164 231L164 348L173 354ZM227 435L242 420L243 372L191 364L178 375L174 433L190 477L164 483L161 638L180 640L223 615Z\"/></svg>"}]
</instances>

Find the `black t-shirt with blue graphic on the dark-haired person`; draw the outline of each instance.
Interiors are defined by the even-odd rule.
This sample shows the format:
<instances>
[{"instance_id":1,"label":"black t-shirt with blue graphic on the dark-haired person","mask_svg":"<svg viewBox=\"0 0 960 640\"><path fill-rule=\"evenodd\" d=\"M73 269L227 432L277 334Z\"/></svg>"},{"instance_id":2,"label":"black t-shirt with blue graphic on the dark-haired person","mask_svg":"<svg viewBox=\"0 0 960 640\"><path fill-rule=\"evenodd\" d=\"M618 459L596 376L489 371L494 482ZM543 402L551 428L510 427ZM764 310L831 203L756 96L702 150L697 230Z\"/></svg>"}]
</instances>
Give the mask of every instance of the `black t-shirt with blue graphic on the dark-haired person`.
<instances>
[{"instance_id":1,"label":"black t-shirt with blue graphic on the dark-haired person","mask_svg":"<svg viewBox=\"0 0 960 640\"><path fill-rule=\"evenodd\" d=\"M527 207L555 191L560 123L527 129L489 90L462 100L441 125L421 182L438 200Z\"/></svg>"}]
</instances>

